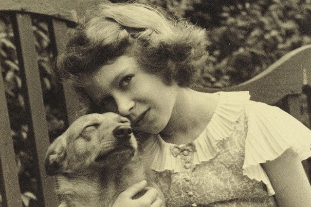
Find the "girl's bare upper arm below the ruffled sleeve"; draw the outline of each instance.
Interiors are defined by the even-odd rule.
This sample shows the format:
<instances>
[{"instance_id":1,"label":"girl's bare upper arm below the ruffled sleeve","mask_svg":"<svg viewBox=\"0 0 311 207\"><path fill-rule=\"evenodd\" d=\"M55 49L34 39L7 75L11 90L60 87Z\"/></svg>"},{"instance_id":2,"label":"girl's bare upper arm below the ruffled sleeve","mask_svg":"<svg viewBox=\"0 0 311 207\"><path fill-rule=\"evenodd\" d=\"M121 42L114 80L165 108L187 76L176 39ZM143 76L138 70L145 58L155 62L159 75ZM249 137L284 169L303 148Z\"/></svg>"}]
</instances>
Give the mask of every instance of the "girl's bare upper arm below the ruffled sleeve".
<instances>
[{"instance_id":1,"label":"girl's bare upper arm below the ruffled sleeve","mask_svg":"<svg viewBox=\"0 0 311 207\"><path fill-rule=\"evenodd\" d=\"M311 187L298 155L286 150L275 160L262 163L279 206L311 206Z\"/></svg>"}]
</instances>

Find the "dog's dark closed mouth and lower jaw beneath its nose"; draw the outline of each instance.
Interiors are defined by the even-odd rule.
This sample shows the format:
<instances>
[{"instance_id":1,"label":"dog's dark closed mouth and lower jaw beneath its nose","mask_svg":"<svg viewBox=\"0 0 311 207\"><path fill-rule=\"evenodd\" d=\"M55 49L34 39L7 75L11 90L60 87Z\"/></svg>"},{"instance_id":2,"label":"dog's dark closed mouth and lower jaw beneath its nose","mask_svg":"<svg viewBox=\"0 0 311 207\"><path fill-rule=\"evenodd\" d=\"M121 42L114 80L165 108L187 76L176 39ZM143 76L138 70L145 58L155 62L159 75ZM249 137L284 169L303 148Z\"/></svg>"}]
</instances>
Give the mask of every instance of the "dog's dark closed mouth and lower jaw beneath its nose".
<instances>
[{"instance_id":1,"label":"dog's dark closed mouth and lower jaw beneath its nose","mask_svg":"<svg viewBox=\"0 0 311 207\"><path fill-rule=\"evenodd\" d=\"M118 146L113 150L101 154L95 158L96 162L120 162L129 160L134 156L135 149L130 145Z\"/></svg>"}]
</instances>

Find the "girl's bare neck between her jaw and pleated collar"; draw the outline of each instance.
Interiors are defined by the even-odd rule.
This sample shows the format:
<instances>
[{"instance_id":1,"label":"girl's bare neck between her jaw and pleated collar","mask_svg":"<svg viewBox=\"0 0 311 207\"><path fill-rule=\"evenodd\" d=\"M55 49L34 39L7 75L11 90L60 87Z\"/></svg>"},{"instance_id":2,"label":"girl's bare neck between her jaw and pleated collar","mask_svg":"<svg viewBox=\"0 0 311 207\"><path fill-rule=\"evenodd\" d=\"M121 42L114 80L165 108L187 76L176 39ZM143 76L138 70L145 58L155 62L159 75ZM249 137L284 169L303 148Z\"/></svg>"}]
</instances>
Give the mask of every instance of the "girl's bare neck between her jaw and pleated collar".
<instances>
[{"instance_id":1,"label":"girl's bare neck between her jaw and pleated collar","mask_svg":"<svg viewBox=\"0 0 311 207\"><path fill-rule=\"evenodd\" d=\"M218 102L218 95L180 88L171 118L160 132L162 139L184 144L196 139L206 128Z\"/></svg>"}]
</instances>

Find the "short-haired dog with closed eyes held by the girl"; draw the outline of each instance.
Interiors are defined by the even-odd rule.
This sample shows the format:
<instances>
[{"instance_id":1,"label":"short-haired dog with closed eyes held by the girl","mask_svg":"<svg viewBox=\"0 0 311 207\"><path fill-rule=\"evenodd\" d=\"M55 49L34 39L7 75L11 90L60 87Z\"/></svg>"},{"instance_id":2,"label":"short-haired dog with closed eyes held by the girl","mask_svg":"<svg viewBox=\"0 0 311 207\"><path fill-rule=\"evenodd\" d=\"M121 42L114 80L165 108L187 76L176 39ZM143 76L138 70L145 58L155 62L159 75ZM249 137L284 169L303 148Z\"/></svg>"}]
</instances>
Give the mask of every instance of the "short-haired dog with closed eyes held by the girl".
<instances>
[{"instance_id":1,"label":"short-haired dog with closed eyes held by the girl","mask_svg":"<svg viewBox=\"0 0 311 207\"><path fill-rule=\"evenodd\" d=\"M75 120L48 148L45 169L57 177L60 206L109 206L132 184L150 181L130 121L115 113Z\"/></svg>"}]
</instances>

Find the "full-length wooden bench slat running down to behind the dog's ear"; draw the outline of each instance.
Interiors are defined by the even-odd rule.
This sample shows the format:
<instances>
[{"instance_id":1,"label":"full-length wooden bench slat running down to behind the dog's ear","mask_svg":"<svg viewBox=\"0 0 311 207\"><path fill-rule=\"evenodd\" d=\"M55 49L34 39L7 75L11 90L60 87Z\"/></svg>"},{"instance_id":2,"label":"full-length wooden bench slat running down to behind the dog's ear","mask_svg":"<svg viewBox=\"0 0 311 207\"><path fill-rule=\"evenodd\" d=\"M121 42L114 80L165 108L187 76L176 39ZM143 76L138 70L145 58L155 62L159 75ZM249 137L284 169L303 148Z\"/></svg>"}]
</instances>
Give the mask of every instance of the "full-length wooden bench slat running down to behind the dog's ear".
<instances>
[{"instance_id":1,"label":"full-length wooden bench slat running down to behind the dog's ear","mask_svg":"<svg viewBox=\"0 0 311 207\"><path fill-rule=\"evenodd\" d=\"M33 137L36 154L38 155L42 191L45 203L48 206L57 206L57 196L53 191L54 178L45 174L45 153L50 144L46 113L43 102L38 60L35 50L35 39L32 31L31 17L29 14L17 14L17 27L21 41L22 61L25 69L26 86L29 96ZM31 38L33 37L33 38Z\"/></svg>"}]
</instances>

